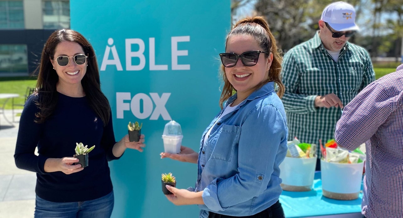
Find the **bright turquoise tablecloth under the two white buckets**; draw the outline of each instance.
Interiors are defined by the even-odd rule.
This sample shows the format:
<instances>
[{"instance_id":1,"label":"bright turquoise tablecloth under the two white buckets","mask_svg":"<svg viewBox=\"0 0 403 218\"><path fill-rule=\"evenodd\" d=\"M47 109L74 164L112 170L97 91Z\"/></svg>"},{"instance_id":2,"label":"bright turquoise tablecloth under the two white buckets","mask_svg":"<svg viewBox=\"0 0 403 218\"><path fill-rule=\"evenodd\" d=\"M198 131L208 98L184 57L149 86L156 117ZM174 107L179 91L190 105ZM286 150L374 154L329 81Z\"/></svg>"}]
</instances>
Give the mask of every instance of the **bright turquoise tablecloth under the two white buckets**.
<instances>
[{"instance_id":1,"label":"bright turquoise tablecloth under the two white buckets","mask_svg":"<svg viewBox=\"0 0 403 218\"><path fill-rule=\"evenodd\" d=\"M362 191L358 199L351 201L324 197L322 195L320 171L315 172L313 190L303 192L283 191L280 195L280 203L287 218L359 213L361 212L361 201Z\"/></svg>"}]
</instances>

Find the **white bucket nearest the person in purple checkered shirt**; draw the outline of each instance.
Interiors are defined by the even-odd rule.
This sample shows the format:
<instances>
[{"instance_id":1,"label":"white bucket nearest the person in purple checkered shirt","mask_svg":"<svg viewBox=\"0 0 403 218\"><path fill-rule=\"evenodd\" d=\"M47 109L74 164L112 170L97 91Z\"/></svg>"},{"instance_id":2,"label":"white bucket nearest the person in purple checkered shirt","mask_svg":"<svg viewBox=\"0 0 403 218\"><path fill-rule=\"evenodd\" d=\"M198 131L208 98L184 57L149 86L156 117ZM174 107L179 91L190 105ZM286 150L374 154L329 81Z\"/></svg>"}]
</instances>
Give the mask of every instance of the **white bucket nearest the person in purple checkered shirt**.
<instances>
[{"instance_id":1,"label":"white bucket nearest the person in purple checkered shirt","mask_svg":"<svg viewBox=\"0 0 403 218\"><path fill-rule=\"evenodd\" d=\"M323 196L338 200L357 199L361 191L364 162L339 164L320 160Z\"/></svg>"}]
</instances>

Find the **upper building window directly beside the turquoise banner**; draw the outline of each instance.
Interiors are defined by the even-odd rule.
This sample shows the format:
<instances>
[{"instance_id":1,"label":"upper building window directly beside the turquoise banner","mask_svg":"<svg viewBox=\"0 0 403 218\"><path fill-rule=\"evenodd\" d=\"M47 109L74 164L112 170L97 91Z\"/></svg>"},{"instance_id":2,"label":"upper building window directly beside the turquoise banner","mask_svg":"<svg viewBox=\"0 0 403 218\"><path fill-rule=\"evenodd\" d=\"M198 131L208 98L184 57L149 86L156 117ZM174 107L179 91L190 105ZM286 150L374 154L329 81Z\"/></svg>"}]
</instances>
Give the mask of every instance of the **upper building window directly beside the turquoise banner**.
<instances>
[{"instance_id":1,"label":"upper building window directly beside the turquoise banner","mask_svg":"<svg viewBox=\"0 0 403 218\"><path fill-rule=\"evenodd\" d=\"M70 28L69 1L42 1L44 29Z\"/></svg>"}]
</instances>

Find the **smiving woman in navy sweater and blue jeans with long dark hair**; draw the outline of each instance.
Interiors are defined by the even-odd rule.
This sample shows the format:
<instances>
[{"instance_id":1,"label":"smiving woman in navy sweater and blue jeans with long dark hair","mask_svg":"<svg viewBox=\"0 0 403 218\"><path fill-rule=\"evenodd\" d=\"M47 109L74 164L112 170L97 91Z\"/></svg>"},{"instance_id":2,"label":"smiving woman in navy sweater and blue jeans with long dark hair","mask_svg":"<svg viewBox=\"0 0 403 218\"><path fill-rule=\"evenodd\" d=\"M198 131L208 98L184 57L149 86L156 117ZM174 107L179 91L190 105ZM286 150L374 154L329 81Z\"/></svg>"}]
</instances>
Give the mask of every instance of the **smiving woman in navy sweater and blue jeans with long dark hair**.
<instances>
[{"instance_id":1,"label":"smiving woman in navy sweater and blue jeans with long dark hair","mask_svg":"<svg viewBox=\"0 0 403 218\"><path fill-rule=\"evenodd\" d=\"M77 31L58 30L42 51L37 91L21 114L15 163L37 173L35 217L110 217L114 204L108 161L126 148L142 152L144 135L116 142L112 113L100 89L95 52ZM95 148L83 168L76 143ZM35 155L35 147L38 155Z\"/></svg>"}]
</instances>

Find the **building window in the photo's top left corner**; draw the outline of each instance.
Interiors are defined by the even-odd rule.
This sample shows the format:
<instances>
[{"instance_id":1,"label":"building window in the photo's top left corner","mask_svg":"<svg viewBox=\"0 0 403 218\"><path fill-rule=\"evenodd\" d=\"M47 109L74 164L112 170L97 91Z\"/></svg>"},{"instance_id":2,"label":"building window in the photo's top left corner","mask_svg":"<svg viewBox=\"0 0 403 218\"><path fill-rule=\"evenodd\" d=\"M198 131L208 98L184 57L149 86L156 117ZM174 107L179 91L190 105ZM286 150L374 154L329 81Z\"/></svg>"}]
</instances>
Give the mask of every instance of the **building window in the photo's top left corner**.
<instances>
[{"instance_id":1,"label":"building window in the photo's top left corner","mask_svg":"<svg viewBox=\"0 0 403 218\"><path fill-rule=\"evenodd\" d=\"M0 1L0 29L24 29L23 1Z\"/></svg>"}]
</instances>

